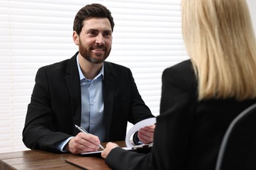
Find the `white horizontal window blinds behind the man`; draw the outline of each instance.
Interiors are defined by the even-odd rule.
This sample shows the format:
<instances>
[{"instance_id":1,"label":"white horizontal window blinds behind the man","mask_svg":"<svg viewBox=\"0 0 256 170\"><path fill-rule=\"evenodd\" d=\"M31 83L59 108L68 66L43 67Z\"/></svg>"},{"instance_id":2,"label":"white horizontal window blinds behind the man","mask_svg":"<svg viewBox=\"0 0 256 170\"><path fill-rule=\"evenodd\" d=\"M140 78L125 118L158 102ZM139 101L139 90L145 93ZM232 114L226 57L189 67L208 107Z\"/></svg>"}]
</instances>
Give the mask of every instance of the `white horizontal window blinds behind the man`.
<instances>
[{"instance_id":1,"label":"white horizontal window blinds behind the man","mask_svg":"<svg viewBox=\"0 0 256 170\"><path fill-rule=\"evenodd\" d=\"M131 68L146 105L159 114L163 69L188 59L180 0L0 0L0 152L27 150L22 129L39 67L71 58L75 14L102 3L114 17L108 61Z\"/></svg>"}]
</instances>

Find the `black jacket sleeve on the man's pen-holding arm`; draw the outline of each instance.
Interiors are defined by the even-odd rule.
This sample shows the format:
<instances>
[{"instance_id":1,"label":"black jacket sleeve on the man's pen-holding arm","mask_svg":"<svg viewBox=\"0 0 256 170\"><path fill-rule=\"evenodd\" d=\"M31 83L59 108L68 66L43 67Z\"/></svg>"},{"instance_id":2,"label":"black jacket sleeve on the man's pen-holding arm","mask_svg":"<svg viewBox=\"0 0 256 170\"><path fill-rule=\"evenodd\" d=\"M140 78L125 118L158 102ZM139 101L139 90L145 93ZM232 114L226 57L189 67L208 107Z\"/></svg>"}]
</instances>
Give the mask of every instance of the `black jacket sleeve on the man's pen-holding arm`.
<instances>
[{"instance_id":1,"label":"black jacket sleeve on the man's pen-holding arm","mask_svg":"<svg viewBox=\"0 0 256 170\"><path fill-rule=\"evenodd\" d=\"M55 132L53 111L47 74L41 68L35 76L35 86L28 105L25 126L22 131L24 144L31 149L58 152L54 143L67 139L71 135Z\"/></svg>"}]
</instances>

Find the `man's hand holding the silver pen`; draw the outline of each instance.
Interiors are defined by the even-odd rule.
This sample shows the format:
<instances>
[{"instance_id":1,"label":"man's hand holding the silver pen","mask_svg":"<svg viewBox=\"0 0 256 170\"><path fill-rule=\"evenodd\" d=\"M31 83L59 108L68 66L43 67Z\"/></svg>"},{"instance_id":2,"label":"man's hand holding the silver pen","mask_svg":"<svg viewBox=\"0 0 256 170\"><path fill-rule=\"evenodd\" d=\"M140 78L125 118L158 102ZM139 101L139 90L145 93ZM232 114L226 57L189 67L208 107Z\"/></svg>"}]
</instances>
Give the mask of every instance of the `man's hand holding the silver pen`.
<instances>
[{"instance_id":1,"label":"man's hand holding the silver pen","mask_svg":"<svg viewBox=\"0 0 256 170\"><path fill-rule=\"evenodd\" d=\"M82 154L97 151L98 144L100 139L97 136L80 132L70 139L64 148L72 154Z\"/></svg>"}]
</instances>

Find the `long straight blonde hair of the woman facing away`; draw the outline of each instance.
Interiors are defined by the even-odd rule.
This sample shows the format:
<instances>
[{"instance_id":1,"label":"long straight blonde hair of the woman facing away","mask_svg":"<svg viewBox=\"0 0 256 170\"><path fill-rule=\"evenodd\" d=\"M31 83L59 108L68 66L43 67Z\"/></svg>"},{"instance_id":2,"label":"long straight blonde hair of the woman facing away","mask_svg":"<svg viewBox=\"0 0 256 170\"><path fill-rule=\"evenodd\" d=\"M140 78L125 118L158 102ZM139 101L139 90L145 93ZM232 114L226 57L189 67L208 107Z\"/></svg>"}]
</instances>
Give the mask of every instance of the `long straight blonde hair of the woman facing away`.
<instances>
[{"instance_id":1,"label":"long straight blonde hair of the woman facing away","mask_svg":"<svg viewBox=\"0 0 256 170\"><path fill-rule=\"evenodd\" d=\"M256 97L256 41L245 0L182 0L198 99Z\"/></svg>"}]
</instances>

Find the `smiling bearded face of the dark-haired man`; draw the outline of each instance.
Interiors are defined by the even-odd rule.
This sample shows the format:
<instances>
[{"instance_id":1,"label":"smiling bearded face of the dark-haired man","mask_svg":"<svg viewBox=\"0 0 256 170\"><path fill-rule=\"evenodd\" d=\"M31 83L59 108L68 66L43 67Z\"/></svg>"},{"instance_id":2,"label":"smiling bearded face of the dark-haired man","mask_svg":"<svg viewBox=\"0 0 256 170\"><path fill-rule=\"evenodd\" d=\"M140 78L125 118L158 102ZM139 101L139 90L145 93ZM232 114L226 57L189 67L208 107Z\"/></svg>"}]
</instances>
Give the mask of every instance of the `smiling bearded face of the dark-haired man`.
<instances>
[{"instance_id":1,"label":"smiling bearded face of the dark-haired man","mask_svg":"<svg viewBox=\"0 0 256 170\"><path fill-rule=\"evenodd\" d=\"M102 63L108 58L112 46L112 28L109 20L107 18L84 20L77 39L79 54L83 58L91 63Z\"/></svg>"}]
</instances>

